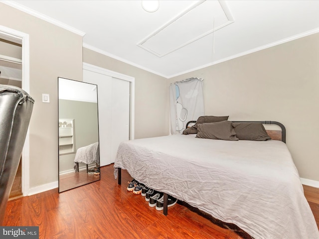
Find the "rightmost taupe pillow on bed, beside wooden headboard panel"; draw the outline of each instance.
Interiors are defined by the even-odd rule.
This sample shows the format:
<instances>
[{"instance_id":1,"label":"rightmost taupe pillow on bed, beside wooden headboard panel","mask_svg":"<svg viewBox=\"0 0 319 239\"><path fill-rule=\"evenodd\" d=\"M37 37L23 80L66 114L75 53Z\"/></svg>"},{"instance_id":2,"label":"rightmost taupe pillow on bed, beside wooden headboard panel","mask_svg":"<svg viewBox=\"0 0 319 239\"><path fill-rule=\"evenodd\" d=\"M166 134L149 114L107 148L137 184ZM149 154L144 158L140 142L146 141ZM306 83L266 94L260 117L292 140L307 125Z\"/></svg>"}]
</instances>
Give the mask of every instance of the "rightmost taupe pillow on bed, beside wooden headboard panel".
<instances>
[{"instance_id":1,"label":"rightmost taupe pillow on bed, beside wooden headboard panel","mask_svg":"<svg viewBox=\"0 0 319 239\"><path fill-rule=\"evenodd\" d=\"M241 140L265 141L271 139L262 123L233 122L236 136Z\"/></svg>"}]
</instances>

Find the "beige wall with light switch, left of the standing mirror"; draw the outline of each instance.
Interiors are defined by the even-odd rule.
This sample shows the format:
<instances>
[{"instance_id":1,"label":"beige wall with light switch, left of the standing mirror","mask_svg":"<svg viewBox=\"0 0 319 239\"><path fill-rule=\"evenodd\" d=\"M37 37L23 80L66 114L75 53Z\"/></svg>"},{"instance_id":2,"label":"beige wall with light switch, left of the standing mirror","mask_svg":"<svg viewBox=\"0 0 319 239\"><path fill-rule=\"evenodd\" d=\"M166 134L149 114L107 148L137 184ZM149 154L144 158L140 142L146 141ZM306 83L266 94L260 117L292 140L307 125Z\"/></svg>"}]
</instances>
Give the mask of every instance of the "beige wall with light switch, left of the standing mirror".
<instances>
[{"instance_id":1,"label":"beige wall with light switch, left of the standing mirror","mask_svg":"<svg viewBox=\"0 0 319 239\"><path fill-rule=\"evenodd\" d=\"M0 22L29 34L30 188L58 180L57 77L82 81L82 36L0 3ZM42 103L42 93L50 103Z\"/></svg>"}]
</instances>

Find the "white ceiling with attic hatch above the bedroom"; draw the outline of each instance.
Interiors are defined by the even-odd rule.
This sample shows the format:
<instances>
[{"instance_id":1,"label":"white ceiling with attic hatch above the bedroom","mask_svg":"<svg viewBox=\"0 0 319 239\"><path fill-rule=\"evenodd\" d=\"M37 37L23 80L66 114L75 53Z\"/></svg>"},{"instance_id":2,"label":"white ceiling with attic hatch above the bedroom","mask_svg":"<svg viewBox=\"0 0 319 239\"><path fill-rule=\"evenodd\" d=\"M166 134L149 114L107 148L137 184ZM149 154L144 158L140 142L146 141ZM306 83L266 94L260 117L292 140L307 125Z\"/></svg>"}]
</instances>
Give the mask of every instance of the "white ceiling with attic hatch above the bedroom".
<instances>
[{"instance_id":1,"label":"white ceiling with attic hatch above the bedroom","mask_svg":"<svg viewBox=\"0 0 319 239\"><path fill-rule=\"evenodd\" d=\"M2 1L84 34L84 47L170 78L319 32L319 0Z\"/></svg>"}]
</instances>

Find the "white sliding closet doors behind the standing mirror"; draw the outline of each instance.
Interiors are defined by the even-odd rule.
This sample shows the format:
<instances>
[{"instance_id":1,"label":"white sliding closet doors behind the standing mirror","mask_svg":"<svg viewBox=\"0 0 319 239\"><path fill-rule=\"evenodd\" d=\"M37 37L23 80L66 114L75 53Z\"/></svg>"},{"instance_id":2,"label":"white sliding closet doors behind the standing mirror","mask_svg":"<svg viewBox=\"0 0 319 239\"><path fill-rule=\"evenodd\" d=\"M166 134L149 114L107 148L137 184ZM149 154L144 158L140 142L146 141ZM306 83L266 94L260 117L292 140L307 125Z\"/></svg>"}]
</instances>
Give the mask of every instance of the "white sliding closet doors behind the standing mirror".
<instances>
[{"instance_id":1,"label":"white sliding closet doors behind the standing mirror","mask_svg":"<svg viewBox=\"0 0 319 239\"><path fill-rule=\"evenodd\" d=\"M130 82L83 70L83 81L98 86L100 166L111 164L119 143L129 140Z\"/></svg>"}]
</instances>

